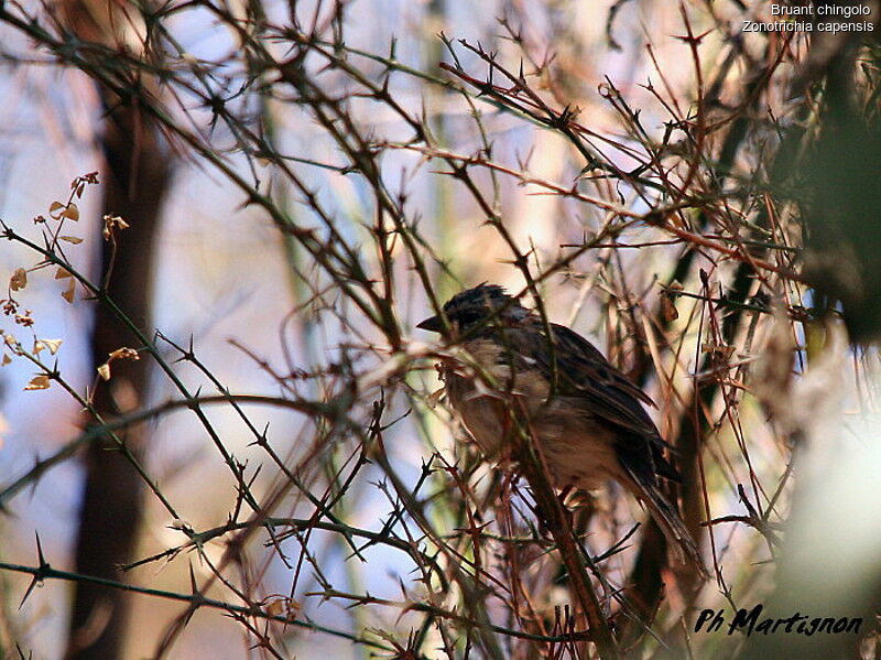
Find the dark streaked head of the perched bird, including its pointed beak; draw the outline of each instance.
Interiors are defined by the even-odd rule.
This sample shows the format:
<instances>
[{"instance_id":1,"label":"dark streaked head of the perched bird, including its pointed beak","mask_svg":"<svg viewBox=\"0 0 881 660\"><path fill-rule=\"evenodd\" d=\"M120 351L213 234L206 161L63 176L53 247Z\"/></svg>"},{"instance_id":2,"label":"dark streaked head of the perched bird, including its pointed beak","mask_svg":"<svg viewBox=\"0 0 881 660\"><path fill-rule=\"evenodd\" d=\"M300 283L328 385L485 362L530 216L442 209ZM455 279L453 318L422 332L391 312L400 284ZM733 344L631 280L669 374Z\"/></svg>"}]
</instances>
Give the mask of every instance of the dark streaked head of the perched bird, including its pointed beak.
<instances>
[{"instance_id":1,"label":"dark streaked head of the perched bird, including its pointed beak","mask_svg":"<svg viewBox=\"0 0 881 660\"><path fill-rule=\"evenodd\" d=\"M490 325L514 324L529 316L530 312L498 284L483 283L450 297L444 304L444 314L453 328L463 333L490 318ZM439 333L444 329L444 323L438 315L426 318L416 327Z\"/></svg>"}]
</instances>

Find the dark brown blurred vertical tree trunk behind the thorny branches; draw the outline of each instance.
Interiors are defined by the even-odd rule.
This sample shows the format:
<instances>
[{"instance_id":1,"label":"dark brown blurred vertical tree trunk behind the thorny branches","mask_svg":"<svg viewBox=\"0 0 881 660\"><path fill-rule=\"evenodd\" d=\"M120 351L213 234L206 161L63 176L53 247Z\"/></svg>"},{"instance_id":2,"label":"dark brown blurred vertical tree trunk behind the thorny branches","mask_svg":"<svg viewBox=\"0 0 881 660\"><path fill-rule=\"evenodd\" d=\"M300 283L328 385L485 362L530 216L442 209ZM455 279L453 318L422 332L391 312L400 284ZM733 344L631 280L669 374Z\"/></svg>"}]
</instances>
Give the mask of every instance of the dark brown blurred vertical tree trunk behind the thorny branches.
<instances>
[{"instance_id":1,"label":"dark brown blurred vertical tree trunk behind the thorny branches","mask_svg":"<svg viewBox=\"0 0 881 660\"><path fill-rule=\"evenodd\" d=\"M64 9L67 25L81 39L120 45L126 35L119 31L131 30L128 19L101 20L111 11L124 11L105 0L66 0ZM100 138L106 158L102 212L119 215L130 225L118 232L116 247L102 241L101 282L110 300L149 335L151 264L168 181L166 149L148 112L138 106L138 96L128 102L108 89L99 91L107 112ZM91 336L94 365L104 364L109 353L122 346L140 348L108 305L99 304ZM146 385L145 360L115 361L111 380L99 380L94 404L104 418L112 418L141 405ZM144 455L142 425L127 429L119 437L135 458ZM142 485L129 459L109 437L93 443L86 456L76 542L78 573L120 580L118 566L132 559L135 548L141 507ZM119 658L127 609L123 592L76 583L66 658Z\"/></svg>"}]
</instances>

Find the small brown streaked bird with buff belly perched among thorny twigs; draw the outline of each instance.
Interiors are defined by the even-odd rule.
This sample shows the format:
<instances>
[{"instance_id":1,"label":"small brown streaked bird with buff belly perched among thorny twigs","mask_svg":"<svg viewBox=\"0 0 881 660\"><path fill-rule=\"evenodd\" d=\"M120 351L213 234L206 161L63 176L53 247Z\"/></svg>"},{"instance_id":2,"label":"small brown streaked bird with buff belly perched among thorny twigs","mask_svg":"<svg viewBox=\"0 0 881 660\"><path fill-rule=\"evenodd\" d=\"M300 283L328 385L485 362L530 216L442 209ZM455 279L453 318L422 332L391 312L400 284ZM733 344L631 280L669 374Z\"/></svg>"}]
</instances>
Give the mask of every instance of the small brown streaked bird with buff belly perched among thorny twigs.
<instances>
[{"instance_id":1,"label":"small brown streaked bird with buff belly perched among thorny twigs","mask_svg":"<svg viewBox=\"0 0 881 660\"><path fill-rule=\"evenodd\" d=\"M682 477L643 403L652 399L586 338L533 310L498 284L457 293L442 314L416 325L463 353L437 366L444 393L485 457L511 443L511 414L526 419L561 491L595 490L616 480L645 504L674 553L706 576L694 538L661 479ZM548 340L548 331L551 334ZM556 378L554 378L556 371Z\"/></svg>"}]
</instances>

